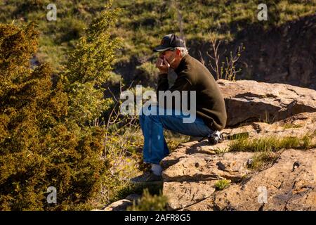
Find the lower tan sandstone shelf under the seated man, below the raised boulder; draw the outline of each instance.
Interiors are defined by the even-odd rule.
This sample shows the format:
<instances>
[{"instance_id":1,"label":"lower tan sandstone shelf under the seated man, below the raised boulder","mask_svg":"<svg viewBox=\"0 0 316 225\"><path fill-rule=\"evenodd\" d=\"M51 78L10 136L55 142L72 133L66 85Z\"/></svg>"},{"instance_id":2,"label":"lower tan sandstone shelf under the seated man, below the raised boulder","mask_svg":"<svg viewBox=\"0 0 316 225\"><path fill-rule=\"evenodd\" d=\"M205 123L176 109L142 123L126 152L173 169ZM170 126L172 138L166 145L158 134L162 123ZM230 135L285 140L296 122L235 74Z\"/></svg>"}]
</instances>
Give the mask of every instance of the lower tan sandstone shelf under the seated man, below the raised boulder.
<instances>
[{"instance_id":1,"label":"lower tan sandstone shelf under the seated man, below the raised boulder","mask_svg":"<svg viewBox=\"0 0 316 225\"><path fill-rule=\"evenodd\" d=\"M313 136L316 113L299 113L272 124L251 122L224 129L224 136L247 132L265 136ZM286 149L260 170L248 165L256 153L228 152L231 140L216 146L207 141L181 143L162 160L163 194L169 210L316 210L316 148ZM228 179L218 191L216 182Z\"/></svg>"}]
</instances>

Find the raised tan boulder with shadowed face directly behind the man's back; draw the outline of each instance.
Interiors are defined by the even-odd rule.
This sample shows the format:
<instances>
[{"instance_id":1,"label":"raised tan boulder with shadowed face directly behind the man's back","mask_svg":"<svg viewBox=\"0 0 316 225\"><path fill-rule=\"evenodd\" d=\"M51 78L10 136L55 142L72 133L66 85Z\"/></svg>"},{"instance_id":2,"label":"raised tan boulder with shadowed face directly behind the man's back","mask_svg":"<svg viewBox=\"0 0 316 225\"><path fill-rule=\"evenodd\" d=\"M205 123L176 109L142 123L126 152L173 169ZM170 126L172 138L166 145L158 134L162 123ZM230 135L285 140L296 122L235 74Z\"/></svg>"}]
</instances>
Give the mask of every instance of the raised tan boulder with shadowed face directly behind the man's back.
<instances>
[{"instance_id":1,"label":"raised tan boulder with shadowed face directly behind the man's back","mask_svg":"<svg viewBox=\"0 0 316 225\"><path fill-rule=\"evenodd\" d=\"M316 112L316 91L289 84L219 79L225 98L227 126L242 122L284 120L298 113Z\"/></svg>"}]
</instances>

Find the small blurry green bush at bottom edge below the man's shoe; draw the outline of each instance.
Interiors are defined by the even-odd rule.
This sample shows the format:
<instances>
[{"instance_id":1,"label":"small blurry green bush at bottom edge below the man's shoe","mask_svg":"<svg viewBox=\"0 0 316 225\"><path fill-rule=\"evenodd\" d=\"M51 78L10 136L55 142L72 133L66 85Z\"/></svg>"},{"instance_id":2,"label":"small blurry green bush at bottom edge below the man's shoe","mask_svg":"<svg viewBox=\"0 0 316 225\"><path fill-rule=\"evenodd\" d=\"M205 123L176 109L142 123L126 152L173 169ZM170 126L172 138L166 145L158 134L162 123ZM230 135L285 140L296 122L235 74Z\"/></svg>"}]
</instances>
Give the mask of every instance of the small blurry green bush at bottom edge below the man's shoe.
<instances>
[{"instance_id":1,"label":"small blurry green bush at bottom edge below the man's shoe","mask_svg":"<svg viewBox=\"0 0 316 225\"><path fill-rule=\"evenodd\" d=\"M128 211L165 211L166 196L162 195L160 192L159 195L151 195L150 191L147 188L144 189L142 198L137 200L137 203L133 203L131 207L128 207Z\"/></svg>"}]
</instances>

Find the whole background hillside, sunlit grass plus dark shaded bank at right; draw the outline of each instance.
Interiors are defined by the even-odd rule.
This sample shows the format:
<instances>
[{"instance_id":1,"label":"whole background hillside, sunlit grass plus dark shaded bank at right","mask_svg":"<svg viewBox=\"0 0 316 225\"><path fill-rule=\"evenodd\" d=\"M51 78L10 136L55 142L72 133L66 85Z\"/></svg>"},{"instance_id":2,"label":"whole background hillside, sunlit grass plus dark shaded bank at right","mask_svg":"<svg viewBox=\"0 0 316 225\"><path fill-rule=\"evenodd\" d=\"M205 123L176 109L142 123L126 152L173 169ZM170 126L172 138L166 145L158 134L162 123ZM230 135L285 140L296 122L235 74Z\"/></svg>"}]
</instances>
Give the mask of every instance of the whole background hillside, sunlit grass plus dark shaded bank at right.
<instances>
[{"instance_id":1,"label":"whole background hillside, sunlit grass plus dark shaded bank at right","mask_svg":"<svg viewBox=\"0 0 316 225\"><path fill-rule=\"evenodd\" d=\"M62 70L67 51L74 48L104 1L55 1L57 20L47 21L48 0L4 0L0 22L25 24L35 20L42 32L34 62L49 62ZM240 43L245 51L237 64L240 79L284 82L315 89L315 1L268 1L268 21L258 21L259 1L114 1L121 8L112 33L122 39L115 72L126 82L143 84L143 71L154 76L152 47L164 34L176 32L187 41L192 56L204 58L210 51L209 32L223 40L220 52L235 52ZM180 30L182 31L180 33ZM201 53L200 53L201 51ZM302 61L301 59L305 60ZM147 62L147 63L146 63ZM144 64L145 63L145 64ZM138 66L143 68L138 69ZM209 67L209 65L208 65ZM297 74L300 73L300 79ZM144 82L145 85L154 86Z\"/></svg>"}]
</instances>

